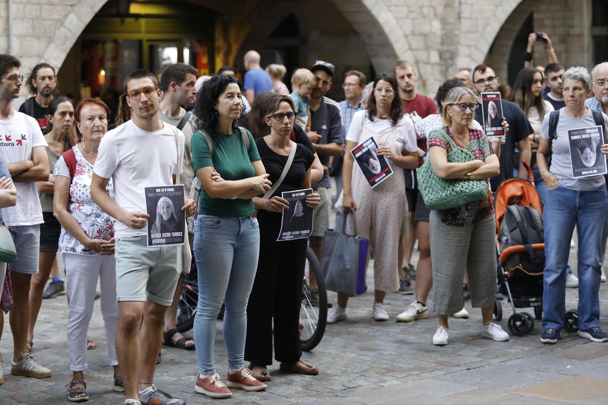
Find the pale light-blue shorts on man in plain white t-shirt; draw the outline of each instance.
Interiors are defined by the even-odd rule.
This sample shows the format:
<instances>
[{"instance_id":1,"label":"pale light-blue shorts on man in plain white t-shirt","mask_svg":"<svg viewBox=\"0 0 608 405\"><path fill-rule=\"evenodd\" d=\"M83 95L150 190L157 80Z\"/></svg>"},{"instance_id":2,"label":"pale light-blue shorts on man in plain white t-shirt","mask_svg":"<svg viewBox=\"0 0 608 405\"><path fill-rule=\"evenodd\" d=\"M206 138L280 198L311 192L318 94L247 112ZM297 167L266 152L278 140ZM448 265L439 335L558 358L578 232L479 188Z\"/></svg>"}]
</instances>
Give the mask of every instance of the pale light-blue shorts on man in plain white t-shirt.
<instances>
[{"instance_id":1,"label":"pale light-blue shorts on man in plain white t-shirt","mask_svg":"<svg viewBox=\"0 0 608 405\"><path fill-rule=\"evenodd\" d=\"M116 238L116 299L169 306L182 272L182 246L146 245L145 235Z\"/></svg>"}]
</instances>

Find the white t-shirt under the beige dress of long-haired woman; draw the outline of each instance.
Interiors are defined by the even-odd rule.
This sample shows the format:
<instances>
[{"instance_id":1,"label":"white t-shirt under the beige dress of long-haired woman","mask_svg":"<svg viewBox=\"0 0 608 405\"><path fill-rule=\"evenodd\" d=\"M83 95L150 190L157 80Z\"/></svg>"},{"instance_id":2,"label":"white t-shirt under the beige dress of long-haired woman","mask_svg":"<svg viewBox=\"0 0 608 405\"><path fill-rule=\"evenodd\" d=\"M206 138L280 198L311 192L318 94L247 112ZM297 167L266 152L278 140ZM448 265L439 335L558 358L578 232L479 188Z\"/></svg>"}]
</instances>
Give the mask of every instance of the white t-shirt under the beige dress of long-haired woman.
<instances>
[{"instance_id":1,"label":"white t-shirt under the beige dress of long-haired woman","mask_svg":"<svg viewBox=\"0 0 608 405\"><path fill-rule=\"evenodd\" d=\"M350 122L350 128L348 128L346 140L350 140L351 142L359 144L362 120L365 120L364 125L368 130L378 134L382 134L396 128L397 147L399 151L418 151L418 145L416 145L416 132L414 131L414 123L410 117L404 115L397 121L397 125L391 126L390 119L381 120L375 118L373 121L370 121L369 117L367 116L367 110L363 109L361 111L357 111L354 113L353 120Z\"/></svg>"}]
</instances>

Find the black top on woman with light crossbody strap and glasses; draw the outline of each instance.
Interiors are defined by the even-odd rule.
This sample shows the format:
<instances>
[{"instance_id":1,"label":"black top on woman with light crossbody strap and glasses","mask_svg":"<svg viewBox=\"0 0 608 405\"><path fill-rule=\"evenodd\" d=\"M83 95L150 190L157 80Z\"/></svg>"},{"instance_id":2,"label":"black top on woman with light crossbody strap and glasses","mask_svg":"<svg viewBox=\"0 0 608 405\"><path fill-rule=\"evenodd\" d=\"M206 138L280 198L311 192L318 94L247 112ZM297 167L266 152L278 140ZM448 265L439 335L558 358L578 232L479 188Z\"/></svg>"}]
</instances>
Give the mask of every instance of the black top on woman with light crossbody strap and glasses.
<instances>
[{"instance_id":1,"label":"black top on woman with light crossbody strap and glasses","mask_svg":"<svg viewBox=\"0 0 608 405\"><path fill-rule=\"evenodd\" d=\"M266 168L266 173L269 174L268 179L274 184L281 177L289 156L275 153L266 144L264 138L256 139L255 145L258 147L258 153L260 154L264 168ZM302 189L302 182L306 177L306 171L313 164L314 155L303 145L296 145L294 161L291 163L285 179L283 179L281 185L278 186L278 189L272 195L273 197L280 197L282 192Z\"/></svg>"}]
</instances>

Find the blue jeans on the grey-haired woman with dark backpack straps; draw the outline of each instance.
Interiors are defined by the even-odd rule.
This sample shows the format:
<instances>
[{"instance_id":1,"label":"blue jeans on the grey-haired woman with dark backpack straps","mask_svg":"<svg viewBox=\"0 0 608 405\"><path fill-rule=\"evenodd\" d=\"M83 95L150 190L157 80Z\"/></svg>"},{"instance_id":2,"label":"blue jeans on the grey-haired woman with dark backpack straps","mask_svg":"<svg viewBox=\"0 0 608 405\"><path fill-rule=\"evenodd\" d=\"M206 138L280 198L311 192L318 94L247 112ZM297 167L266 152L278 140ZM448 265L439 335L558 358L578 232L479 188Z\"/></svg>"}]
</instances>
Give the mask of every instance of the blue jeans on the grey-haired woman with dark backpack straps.
<instances>
[{"instance_id":1,"label":"blue jeans on the grey-haired woman with dark backpack straps","mask_svg":"<svg viewBox=\"0 0 608 405\"><path fill-rule=\"evenodd\" d=\"M606 232L606 185L578 192L558 185L547 190L544 210L545 263L543 328L564 328L565 269L574 227L578 230L578 327L599 326L600 251Z\"/></svg>"}]
</instances>

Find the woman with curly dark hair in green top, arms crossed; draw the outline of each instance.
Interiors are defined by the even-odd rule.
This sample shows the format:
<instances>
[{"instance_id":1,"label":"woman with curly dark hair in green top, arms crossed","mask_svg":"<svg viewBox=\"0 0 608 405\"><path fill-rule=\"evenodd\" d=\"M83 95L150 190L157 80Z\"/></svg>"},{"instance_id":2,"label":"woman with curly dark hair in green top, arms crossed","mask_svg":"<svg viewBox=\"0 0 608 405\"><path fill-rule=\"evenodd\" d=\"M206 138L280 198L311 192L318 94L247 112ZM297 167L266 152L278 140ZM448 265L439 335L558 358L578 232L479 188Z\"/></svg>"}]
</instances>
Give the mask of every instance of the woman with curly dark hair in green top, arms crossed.
<instances>
[{"instance_id":1,"label":"woman with curly dark hair in green top, arms crossed","mask_svg":"<svg viewBox=\"0 0 608 405\"><path fill-rule=\"evenodd\" d=\"M243 368L247 302L260 253L260 230L252 198L271 188L254 138L244 122L241 83L228 75L205 81L196 95L192 161L201 179L193 251L199 299L194 324L199 374L195 390L212 398L232 396L228 387L266 389ZM220 177L218 173L221 173ZM215 372L215 323L222 303L228 351L227 385Z\"/></svg>"}]
</instances>

